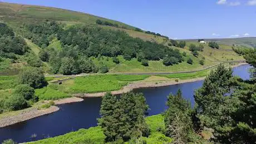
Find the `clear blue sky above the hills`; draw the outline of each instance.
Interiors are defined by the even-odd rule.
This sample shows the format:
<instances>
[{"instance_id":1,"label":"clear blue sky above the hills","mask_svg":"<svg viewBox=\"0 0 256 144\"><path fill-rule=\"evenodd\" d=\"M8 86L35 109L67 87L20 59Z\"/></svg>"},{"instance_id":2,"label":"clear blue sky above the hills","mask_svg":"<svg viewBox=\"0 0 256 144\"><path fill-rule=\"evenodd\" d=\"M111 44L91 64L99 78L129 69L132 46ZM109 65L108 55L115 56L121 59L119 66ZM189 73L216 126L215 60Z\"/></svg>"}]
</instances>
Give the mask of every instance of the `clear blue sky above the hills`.
<instances>
[{"instance_id":1,"label":"clear blue sky above the hills","mask_svg":"<svg viewBox=\"0 0 256 144\"><path fill-rule=\"evenodd\" d=\"M174 39L256 36L256 0L7 0L114 19Z\"/></svg>"}]
</instances>

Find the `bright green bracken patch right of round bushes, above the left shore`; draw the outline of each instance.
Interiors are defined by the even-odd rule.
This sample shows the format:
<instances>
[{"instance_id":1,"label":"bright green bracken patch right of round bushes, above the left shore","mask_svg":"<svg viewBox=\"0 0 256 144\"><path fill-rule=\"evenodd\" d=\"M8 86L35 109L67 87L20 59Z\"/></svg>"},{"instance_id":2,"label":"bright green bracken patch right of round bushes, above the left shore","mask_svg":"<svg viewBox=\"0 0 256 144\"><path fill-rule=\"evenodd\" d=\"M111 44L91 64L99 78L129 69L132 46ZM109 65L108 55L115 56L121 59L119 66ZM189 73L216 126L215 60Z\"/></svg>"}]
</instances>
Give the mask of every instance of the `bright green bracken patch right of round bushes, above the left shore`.
<instances>
[{"instance_id":1,"label":"bright green bracken patch right of round bushes, above the left shore","mask_svg":"<svg viewBox=\"0 0 256 144\"><path fill-rule=\"evenodd\" d=\"M36 89L35 95L37 95L40 100L58 100L60 98L71 97L67 93L57 90L55 87L58 86L56 85L58 84L51 84L50 86Z\"/></svg>"}]
</instances>

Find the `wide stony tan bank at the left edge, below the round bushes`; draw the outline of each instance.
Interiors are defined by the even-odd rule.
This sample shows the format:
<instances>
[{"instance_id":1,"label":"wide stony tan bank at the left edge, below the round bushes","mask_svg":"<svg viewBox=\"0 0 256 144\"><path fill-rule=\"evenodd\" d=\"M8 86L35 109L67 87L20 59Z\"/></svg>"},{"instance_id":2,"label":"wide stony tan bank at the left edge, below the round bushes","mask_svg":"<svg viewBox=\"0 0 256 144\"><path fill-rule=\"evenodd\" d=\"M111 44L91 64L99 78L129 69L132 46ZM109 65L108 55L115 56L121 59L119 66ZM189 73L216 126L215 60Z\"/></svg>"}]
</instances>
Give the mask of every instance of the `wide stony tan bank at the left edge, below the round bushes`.
<instances>
[{"instance_id":1,"label":"wide stony tan bank at the left edge, below the round bushes","mask_svg":"<svg viewBox=\"0 0 256 144\"><path fill-rule=\"evenodd\" d=\"M37 110L37 108L30 108L27 110L23 110L19 115L16 116L7 116L0 119L0 128L13 125L15 123L27 121L31 118L39 117L42 115L46 115L52 112L58 111L60 108L56 106L51 106L50 108Z\"/></svg>"}]
</instances>

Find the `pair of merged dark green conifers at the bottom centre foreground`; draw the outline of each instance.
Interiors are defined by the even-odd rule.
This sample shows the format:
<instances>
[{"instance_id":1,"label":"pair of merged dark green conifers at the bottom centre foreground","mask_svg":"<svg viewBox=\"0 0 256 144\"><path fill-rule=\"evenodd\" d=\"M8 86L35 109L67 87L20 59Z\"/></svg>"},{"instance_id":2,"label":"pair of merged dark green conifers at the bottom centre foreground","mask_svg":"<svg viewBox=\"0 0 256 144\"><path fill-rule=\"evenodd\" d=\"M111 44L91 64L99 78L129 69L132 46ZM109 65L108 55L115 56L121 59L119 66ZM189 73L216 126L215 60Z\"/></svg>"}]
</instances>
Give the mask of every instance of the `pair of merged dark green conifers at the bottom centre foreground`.
<instances>
[{"instance_id":1,"label":"pair of merged dark green conifers at the bottom centre foreground","mask_svg":"<svg viewBox=\"0 0 256 144\"><path fill-rule=\"evenodd\" d=\"M149 107L143 94L125 93L120 99L107 93L102 100L98 120L106 135L106 142L129 141L131 138L149 136L145 122Z\"/></svg>"}]
</instances>

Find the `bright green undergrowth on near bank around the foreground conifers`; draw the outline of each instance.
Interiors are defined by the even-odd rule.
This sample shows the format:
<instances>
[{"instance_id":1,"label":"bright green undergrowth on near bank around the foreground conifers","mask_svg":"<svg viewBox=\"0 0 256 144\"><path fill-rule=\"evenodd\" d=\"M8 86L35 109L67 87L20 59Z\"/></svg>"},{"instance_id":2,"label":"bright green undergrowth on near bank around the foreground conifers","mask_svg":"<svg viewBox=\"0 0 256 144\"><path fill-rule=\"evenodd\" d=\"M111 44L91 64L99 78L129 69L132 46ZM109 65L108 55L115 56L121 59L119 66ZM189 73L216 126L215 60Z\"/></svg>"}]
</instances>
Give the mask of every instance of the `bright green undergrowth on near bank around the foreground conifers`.
<instances>
[{"instance_id":1,"label":"bright green undergrowth on near bank around the foreground conifers","mask_svg":"<svg viewBox=\"0 0 256 144\"><path fill-rule=\"evenodd\" d=\"M147 143L167 143L171 142L171 138L166 137L157 130L164 130L164 117L162 115L155 115L146 117L146 123L149 125L151 135L149 137L142 137ZM101 127L91 127L87 130L80 129L75 132L70 132L62 136L47 138L36 142L29 143L104 143L105 135ZM128 142L127 142L128 143Z\"/></svg>"}]
</instances>

